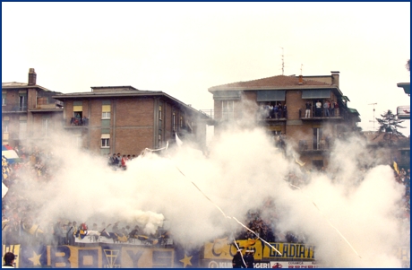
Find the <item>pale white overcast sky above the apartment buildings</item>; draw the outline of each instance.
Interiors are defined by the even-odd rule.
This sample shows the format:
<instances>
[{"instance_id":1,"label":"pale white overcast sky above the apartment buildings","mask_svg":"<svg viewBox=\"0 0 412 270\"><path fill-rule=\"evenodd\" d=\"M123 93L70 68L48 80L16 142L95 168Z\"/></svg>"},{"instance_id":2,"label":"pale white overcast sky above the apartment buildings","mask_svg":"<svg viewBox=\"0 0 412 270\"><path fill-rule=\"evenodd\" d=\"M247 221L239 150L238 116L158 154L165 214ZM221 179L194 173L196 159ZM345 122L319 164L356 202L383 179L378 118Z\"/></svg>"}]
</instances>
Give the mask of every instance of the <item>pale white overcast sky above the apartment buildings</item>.
<instances>
[{"instance_id":1,"label":"pale white overcast sky above the apartment buildings","mask_svg":"<svg viewBox=\"0 0 412 270\"><path fill-rule=\"evenodd\" d=\"M410 82L410 3L2 3L3 83L32 67L52 91L132 85L213 109L208 88L282 74L282 58L285 75L339 71L373 130L373 107L410 104L397 87Z\"/></svg>"}]
</instances>

